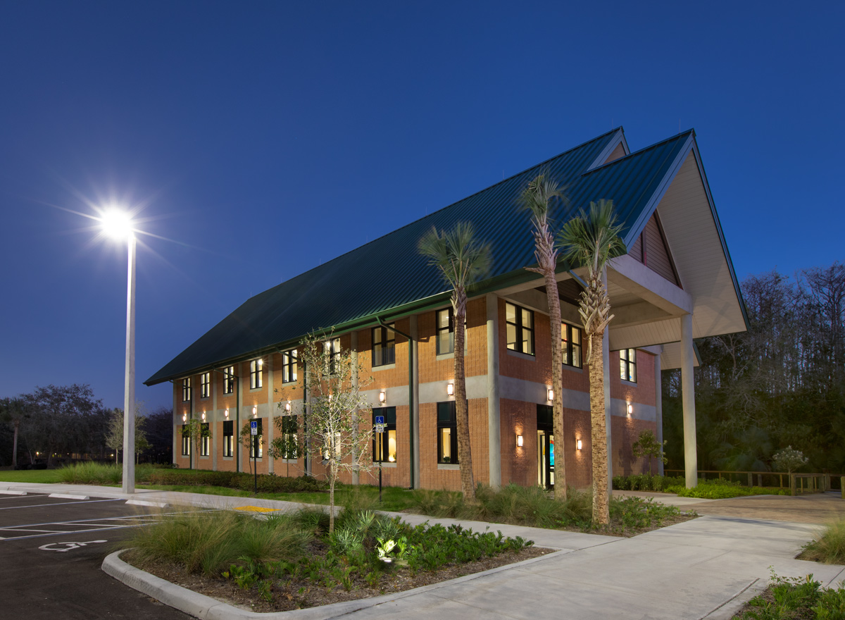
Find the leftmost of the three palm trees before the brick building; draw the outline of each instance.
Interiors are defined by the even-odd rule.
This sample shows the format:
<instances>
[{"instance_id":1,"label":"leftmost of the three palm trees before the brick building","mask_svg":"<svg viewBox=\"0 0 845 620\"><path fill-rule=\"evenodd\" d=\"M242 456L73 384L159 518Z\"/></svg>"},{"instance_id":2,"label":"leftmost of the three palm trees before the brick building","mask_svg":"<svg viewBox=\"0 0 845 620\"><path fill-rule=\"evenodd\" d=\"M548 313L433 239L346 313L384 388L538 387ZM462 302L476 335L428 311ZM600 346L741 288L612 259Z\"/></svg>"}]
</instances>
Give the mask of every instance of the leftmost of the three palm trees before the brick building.
<instances>
[{"instance_id":1,"label":"leftmost of the three palm trees before the brick building","mask_svg":"<svg viewBox=\"0 0 845 620\"><path fill-rule=\"evenodd\" d=\"M455 422L461 491L466 502L474 503L475 480L472 476L470 416L464 371L466 288L488 272L490 246L475 239L471 223L457 222L450 231L432 228L419 240L418 248L420 254L428 258L428 263L440 270L452 288L452 311L455 316Z\"/></svg>"}]
</instances>

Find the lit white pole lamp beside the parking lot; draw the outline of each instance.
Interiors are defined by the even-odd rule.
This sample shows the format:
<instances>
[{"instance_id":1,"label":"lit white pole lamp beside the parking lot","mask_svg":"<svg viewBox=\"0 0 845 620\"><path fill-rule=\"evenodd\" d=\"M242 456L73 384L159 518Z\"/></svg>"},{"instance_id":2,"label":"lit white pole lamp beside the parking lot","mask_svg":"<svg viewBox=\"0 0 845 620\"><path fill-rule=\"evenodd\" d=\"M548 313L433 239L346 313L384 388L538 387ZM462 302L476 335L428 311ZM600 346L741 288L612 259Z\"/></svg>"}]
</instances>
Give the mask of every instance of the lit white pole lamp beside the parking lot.
<instances>
[{"instance_id":1,"label":"lit white pole lamp beside the parking lot","mask_svg":"<svg viewBox=\"0 0 845 620\"><path fill-rule=\"evenodd\" d=\"M123 390L123 492L135 492L135 233L125 211L110 209L101 217L103 231L129 246L126 293L126 375Z\"/></svg>"}]
</instances>

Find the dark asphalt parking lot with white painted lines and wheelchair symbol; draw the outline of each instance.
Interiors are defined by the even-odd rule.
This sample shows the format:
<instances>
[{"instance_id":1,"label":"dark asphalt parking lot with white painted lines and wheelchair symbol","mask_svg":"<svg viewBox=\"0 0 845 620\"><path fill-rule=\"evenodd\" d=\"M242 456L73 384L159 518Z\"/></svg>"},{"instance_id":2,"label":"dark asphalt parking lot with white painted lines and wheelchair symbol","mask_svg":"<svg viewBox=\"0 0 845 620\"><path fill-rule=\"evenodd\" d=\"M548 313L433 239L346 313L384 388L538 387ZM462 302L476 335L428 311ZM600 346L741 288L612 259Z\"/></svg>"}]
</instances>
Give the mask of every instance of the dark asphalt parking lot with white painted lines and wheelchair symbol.
<instances>
[{"instance_id":1,"label":"dark asphalt parking lot with white painted lines and wheelchair symbol","mask_svg":"<svg viewBox=\"0 0 845 620\"><path fill-rule=\"evenodd\" d=\"M0 493L0 617L189 618L100 569L152 517L121 499L82 497Z\"/></svg>"}]
</instances>

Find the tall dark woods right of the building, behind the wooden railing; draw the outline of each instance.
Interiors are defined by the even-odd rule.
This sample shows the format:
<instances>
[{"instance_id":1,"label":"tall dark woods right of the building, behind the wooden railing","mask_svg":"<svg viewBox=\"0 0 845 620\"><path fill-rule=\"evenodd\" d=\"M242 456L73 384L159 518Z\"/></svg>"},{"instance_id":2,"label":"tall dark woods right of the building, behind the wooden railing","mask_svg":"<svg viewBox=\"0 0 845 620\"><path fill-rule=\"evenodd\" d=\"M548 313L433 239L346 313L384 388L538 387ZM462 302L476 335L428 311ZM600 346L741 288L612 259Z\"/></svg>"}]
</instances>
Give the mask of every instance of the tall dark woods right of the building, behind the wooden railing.
<instances>
[{"instance_id":1,"label":"tall dark woods right of the building, behind the wooden railing","mask_svg":"<svg viewBox=\"0 0 845 620\"><path fill-rule=\"evenodd\" d=\"M742 283L749 330L696 341L698 468L766 471L778 450L845 473L845 265ZM683 469L680 372L662 373L670 469Z\"/></svg>"}]
</instances>

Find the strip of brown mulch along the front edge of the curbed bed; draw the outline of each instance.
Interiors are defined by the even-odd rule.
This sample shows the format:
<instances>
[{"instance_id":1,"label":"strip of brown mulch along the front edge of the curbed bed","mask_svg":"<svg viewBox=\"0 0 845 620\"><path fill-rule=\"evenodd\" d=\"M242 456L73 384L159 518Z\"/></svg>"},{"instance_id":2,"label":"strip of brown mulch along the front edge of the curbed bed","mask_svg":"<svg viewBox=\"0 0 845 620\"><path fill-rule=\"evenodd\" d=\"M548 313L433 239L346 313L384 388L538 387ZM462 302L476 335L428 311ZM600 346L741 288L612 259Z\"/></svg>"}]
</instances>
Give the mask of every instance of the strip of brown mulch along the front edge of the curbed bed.
<instances>
[{"instance_id":1,"label":"strip of brown mulch along the front edge of the curbed bed","mask_svg":"<svg viewBox=\"0 0 845 620\"><path fill-rule=\"evenodd\" d=\"M323 584L315 584L308 580L276 579L271 590L272 600L269 602L261 598L258 590L242 590L232 581L222 577L189 574L183 567L176 564L137 562L132 551L124 553L121 559L156 577L232 606L253 612L286 612L292 609L330 605L341 601L357 601L372 596L412 590L423 585L437 584L447 579L481 573L490 568L543 556L553 551L553 549L530 546L518 552L508 551L496 557L484 557L477 562L449 564L438 571L419 571L415 575L406 567L395 567L392 572L384 573L379 588L371 588L363 579L363 575L357 573L353 573L352 588L348 591L341 586L330 589Z\"/></svg>"}]
</instances>

